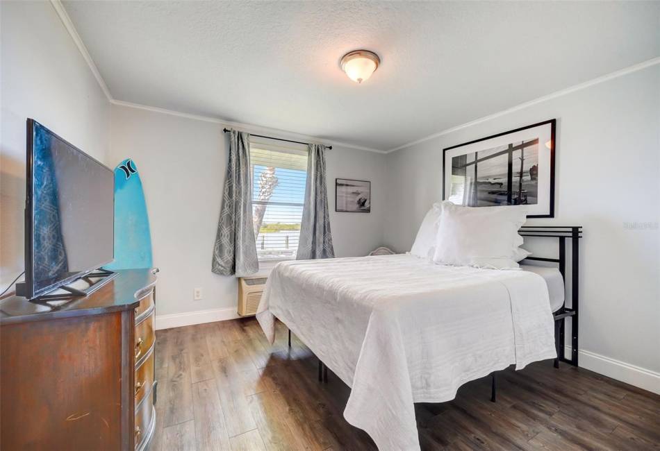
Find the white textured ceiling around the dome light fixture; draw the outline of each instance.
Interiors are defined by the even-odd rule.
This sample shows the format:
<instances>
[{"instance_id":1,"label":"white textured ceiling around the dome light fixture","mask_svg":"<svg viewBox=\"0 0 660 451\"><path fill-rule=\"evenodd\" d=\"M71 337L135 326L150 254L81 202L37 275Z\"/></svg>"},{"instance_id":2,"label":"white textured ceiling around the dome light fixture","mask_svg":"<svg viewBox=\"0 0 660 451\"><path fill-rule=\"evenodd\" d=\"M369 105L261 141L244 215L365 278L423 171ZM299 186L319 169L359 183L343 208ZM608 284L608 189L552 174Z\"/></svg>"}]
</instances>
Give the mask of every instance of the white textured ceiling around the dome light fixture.
<instances>
[{"instance_id":1,"label":"white textured ceiling around the dome light fixture","mask_svg":"<svg viewBox=\"0 0 660 451\"><path fill-rule=\"evenodd\" d=\"M117 100L381 150L660 56L660 2L64 5Z\"/></svg>"}]
</instances>

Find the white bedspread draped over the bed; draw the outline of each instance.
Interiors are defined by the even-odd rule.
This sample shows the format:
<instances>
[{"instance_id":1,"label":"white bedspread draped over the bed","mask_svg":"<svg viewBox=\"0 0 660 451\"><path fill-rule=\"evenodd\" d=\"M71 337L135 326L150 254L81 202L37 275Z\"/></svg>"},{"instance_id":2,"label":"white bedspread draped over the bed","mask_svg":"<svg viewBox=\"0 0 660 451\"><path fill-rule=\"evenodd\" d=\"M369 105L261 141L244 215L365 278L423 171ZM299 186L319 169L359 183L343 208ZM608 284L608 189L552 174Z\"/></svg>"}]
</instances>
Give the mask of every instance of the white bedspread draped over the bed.
<instances>
[{"instance_id":1,"label":"white bedspread draped over the bed","mask_svg":"<svg viewBox=\"0 0 660 451\"><path fill-rule=\"evenodd\" d=\"M279 318L352 388L346 420L380 450L418 450L413 402L510 364L556 357L541 276L440 266L413 255L283 262L257 319Z\"/></svg>"}]
</instances>

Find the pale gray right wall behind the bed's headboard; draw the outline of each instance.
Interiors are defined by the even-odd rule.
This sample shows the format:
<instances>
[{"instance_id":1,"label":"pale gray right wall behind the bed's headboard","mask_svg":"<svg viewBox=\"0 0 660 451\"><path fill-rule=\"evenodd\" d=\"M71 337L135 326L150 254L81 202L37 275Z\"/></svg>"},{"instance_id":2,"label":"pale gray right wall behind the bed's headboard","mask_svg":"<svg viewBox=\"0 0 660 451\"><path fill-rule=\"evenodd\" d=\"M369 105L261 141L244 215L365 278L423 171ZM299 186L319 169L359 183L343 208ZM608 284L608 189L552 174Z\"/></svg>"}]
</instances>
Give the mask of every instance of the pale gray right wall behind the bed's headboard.
<instances>
[{"instance_id":1,"label":"pale gray right wall behind the bed's headboard","mask_svg":"<svg viewBox=\"0 0 660 451\"><path fill-rule=\"evenodd\" d=\"M640 366L652 374L629 382L660 390L660 65L388 154L385 241L410 250L442 196L443 148L552 118L556 217L529 224L584 226L582 364L618 378L600 357Z\"/></svg>"}]
</instances>

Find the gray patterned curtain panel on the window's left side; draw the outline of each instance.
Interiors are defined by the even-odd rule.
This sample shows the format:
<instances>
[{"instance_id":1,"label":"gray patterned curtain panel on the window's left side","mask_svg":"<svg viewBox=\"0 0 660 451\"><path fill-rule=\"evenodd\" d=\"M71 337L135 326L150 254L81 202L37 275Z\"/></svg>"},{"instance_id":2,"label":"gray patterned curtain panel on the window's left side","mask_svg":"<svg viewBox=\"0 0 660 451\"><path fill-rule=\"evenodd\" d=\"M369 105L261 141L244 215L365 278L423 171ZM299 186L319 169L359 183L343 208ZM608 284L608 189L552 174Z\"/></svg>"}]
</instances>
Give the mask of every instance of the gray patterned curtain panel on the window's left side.
<instances>
[{"instance_id":1,"label":"gray patterned curtain panel on the window's left side","mask_svg":"<svg viewBox=\"0 0 660 451\"><path fill-rule=\"evenodd\" d=\"M229 132L227 177L211 265L216 274L242 277L259 270L252 224L249 139L249 133Z\"/></svg>"}]
</instances>

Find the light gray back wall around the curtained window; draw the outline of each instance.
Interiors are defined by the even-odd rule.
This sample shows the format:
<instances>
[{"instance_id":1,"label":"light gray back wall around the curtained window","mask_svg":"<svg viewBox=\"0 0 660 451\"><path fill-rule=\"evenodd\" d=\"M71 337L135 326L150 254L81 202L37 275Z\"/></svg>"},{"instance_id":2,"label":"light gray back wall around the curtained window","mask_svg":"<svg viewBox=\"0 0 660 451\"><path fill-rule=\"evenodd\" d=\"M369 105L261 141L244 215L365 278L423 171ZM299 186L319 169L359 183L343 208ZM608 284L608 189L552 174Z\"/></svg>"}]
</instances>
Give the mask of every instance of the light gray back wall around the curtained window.
<instances>
[{"instance_id":1,"label":"light gray back wall around the curtained window","mask_svg":"<svg viewBox=\"0 0 660 451\"><path fill-rule=\"evenodd\" d=\"M236 313L237 282L211 272L226 171L223 126L113 105L110 162L133 158L147 198L154 265L160 269L157 327ZM382 244L386 212L385 155L333 147L327 153L331 229L336 255L366 255ZM334 179L372 181L370 214L334 212ZM195 287L202 300L192 300ZM203 312L188 320L165 316Z\"/></svg>"}]
</instances>

